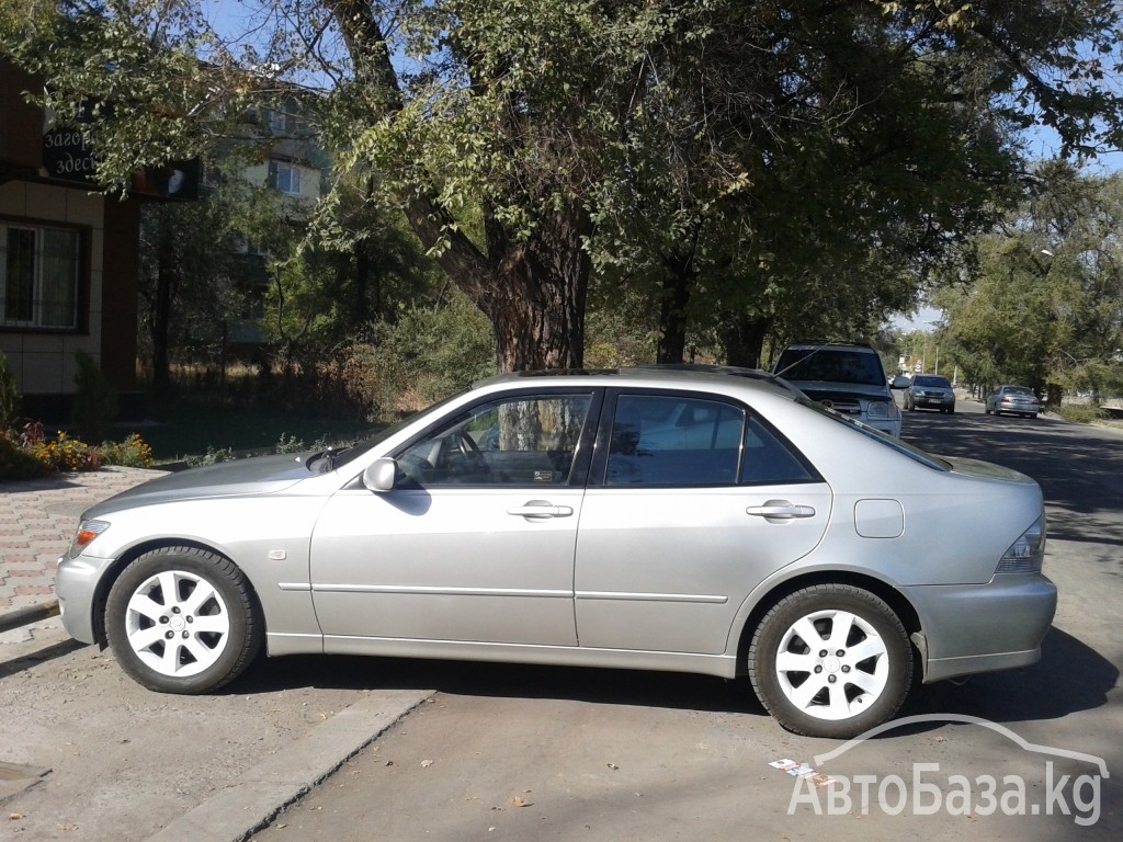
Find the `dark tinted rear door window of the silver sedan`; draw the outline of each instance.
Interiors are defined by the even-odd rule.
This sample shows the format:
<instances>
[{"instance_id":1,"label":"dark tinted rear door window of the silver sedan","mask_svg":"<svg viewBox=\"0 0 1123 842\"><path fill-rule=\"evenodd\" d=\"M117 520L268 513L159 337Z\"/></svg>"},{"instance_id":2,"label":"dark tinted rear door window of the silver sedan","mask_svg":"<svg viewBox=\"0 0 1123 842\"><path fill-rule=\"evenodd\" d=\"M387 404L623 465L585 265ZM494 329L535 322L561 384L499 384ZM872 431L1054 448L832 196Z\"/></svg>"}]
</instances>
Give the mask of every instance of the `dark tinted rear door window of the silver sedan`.
<instances>
[{"instance_id":1,"label":"dark tinted rear door window of the silver sedan","mask_svg":"<svg viewBox=\"0 0 1123 842\"><path fill-rule=\"evenodd\" d=\"M706 486L814 479L786 442L740 406L697 397L621 395L606 485Z\"/></svg>"}]
</instances>

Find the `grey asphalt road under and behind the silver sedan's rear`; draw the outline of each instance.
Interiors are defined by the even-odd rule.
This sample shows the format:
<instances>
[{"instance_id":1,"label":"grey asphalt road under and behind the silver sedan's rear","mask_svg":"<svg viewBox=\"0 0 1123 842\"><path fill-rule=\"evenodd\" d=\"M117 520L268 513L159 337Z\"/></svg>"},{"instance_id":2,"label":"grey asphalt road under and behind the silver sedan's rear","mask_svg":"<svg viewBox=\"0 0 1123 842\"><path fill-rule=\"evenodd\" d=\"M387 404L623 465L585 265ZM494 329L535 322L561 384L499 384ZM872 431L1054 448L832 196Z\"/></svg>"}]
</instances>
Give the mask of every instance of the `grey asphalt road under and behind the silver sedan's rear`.
<instances>
[{"instance_id":1,"label":"grey asphalt road under and behind the silver sedan's rear","mask_svg":"<svg viewBox=\"0 0 1123 842\"><path fill-rule=\"evenodd\" d=\"M375 661L437 695L254 839L1123 839L1123 432L960 402L903 438L1041 483L1060 606L1038 665L921 687L901 716L929 721L824 757L745 681Z\"/></svg>"}]
</instances>

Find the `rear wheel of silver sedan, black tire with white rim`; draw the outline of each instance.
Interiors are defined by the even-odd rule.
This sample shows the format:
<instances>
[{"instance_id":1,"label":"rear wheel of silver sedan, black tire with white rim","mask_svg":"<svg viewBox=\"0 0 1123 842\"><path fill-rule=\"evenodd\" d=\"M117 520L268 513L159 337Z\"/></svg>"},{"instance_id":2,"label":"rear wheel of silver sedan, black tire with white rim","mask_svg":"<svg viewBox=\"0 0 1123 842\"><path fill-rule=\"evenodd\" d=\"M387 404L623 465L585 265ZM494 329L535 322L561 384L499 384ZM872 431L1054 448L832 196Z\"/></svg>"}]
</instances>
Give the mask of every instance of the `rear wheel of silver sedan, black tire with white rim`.
<instances>
[{"instance_id":1,"label":"rear wheel of silver sedan, black tire with white rim","mask_svg":"<svg viewBox=\"0 0 1123 842\"><path fill-rule=\"evenodd\" d=\"M846 624L836 629L839 622ZM805 641L804 634L818 637ZM846 638L830 640L834 634ZM748 668L760 704L785 729L847 740L901 708L912 687L913 653L901 620L880 597L851 585L814 585L765 614Z\"/></svg>"}]
</instances>

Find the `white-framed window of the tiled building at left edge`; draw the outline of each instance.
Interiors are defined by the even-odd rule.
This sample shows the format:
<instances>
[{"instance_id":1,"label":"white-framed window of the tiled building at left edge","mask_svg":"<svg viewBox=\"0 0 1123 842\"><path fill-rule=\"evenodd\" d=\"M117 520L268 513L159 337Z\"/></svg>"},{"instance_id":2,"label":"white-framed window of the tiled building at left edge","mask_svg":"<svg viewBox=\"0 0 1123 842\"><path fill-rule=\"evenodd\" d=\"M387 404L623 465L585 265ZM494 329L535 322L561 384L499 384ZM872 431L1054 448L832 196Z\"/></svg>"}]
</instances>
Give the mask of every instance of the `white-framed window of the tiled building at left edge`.
<instances>
[{"instance_id":1,"label":"white-framed window of the tiled building at left edge","mask_svg":"<svg viewBox=\"0 0 1123 842\"><path fill-rule=\"evenodd\" d=\"M77 327L77 231L0 221L0 327Z\"/></svg>"}]
</instances>

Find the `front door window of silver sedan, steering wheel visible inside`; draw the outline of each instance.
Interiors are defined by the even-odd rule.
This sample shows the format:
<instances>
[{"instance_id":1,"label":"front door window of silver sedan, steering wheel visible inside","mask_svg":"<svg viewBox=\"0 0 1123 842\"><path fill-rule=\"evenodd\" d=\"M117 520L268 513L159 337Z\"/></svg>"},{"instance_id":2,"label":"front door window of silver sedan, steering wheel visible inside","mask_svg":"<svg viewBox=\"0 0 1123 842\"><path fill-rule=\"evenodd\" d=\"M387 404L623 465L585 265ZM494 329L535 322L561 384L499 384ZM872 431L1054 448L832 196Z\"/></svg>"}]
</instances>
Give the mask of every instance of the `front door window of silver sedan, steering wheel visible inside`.
<instances>
[{"instance_id":1,"label":"front door window of silver sedan, steering wheel visible inside","mask_svg":"<svg viewBox=\"0 0 1123 842\"><path fill-rule=\"evenodd\" d=\"M591 405L590 394L549 394L474 406L399 455L399 485L565 485Z\"/></svg>"}]
</instances>

